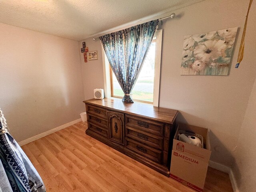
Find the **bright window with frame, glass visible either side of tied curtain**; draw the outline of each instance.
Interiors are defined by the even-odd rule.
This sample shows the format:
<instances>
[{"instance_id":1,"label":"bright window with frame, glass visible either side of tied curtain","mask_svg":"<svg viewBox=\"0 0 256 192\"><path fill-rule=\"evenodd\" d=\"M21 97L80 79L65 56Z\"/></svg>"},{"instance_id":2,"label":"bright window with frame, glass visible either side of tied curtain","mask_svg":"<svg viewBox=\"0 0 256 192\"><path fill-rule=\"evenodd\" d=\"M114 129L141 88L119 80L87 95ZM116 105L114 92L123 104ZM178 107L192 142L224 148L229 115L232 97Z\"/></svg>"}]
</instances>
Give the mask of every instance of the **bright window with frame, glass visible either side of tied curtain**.
<instances>
[{"instance_id":1,"label":"bright window with frame, glass visible either side of tied curtain","mask_svg":"<svg viewBox=\"0 0 256 192\"><path fill-rule=\"evenodd\" d=\"M158 106L159 83L160 83L160 61L162 47L162 30L158 30L152 40L138 79L132 89L132 100L151 103ZM123 98L124 93L114 75L108 59L103 60L105 95L107 98Z\"/></svg>"}]
</instances>

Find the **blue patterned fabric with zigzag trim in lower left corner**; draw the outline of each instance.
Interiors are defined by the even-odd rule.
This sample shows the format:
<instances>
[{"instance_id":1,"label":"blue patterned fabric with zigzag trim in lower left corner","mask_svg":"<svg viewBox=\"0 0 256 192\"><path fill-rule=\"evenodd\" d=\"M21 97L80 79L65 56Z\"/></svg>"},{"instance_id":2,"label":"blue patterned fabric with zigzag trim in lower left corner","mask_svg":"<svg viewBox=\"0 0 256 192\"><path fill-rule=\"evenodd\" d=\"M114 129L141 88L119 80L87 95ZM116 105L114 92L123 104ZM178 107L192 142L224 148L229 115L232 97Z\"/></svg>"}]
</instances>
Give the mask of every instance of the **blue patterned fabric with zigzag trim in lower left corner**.
<instances>
[{"instance_id":1,"label":"blue patterned fabric with zigzag trim in lower left corner","mask_svg":"<svg viewBox=\"0 0 256 192\"><path fill-rule=\"evenodd\" d=\"M45 192L38 172L6 127L0 109L0 169L5 172L1 172L0 191L4 188L4 192Z\"/></svg>"}]
</instances>

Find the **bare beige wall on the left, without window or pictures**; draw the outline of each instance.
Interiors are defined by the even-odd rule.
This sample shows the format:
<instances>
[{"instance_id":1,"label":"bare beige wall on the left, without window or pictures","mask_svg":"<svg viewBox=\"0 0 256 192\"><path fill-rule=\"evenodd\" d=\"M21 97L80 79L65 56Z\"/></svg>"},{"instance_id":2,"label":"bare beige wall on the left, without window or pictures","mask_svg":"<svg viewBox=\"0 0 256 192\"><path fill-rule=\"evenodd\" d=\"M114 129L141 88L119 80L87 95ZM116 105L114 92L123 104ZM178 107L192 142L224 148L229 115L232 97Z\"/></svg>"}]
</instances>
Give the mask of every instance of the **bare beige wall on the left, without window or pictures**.
<instances>
[{"instance_id":1,"label":"bare beige wall on the left, without window or pictures","mask_svg":"<svg viewBox=\"0 0 256 192\"><path fill-rule=\"evenodd\" d=\"M78 42L0 23L0 107L20 142L80 118Z\"/></svg>"}]
</instances>

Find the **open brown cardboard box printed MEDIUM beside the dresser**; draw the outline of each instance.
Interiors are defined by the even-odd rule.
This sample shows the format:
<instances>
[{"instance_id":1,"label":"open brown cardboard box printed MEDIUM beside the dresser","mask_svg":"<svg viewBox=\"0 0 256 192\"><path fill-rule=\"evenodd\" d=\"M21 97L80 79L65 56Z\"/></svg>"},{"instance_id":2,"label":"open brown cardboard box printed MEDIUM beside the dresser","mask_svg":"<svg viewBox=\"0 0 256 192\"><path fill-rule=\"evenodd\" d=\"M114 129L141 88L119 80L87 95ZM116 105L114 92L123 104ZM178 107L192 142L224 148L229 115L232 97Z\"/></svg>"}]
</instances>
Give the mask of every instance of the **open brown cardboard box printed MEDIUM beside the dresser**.
<instances>
[{"instance_id":1,"label":"open brown cardboard box printed MEDIUM beside the dresser","mask_svg":"<svg viewBox=\"0 0 256 192\"><path fill-rule=\"evenodd\" d=\"M178 130L202 135L204 148L176 140ZM208 129L179 124L173 140L170 177L195 191L202 192L210 156Z\"/></svg>"}]
</instances>

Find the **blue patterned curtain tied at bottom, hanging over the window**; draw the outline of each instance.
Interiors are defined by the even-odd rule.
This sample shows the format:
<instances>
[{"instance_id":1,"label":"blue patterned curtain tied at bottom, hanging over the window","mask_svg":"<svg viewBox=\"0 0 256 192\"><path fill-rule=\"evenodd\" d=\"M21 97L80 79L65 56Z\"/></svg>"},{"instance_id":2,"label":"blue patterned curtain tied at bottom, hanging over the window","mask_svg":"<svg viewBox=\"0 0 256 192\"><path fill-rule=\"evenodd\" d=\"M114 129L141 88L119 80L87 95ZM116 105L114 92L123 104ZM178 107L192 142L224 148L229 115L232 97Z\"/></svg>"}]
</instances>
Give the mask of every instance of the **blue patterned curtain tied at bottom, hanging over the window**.
<instances>
[{"instance_id":1,"label":"blue patterned curtain tied at bottom, hanging over the window","mask_svg":"<svg viewBox=\"0 0 256 192\"><path fill-rule=\"evenodd\" d=\"M158 20L100 36L110 66L123 92L122 101L133 103L130 92L142 68Z\"/></svg>"}]
</instances>

